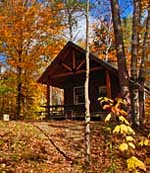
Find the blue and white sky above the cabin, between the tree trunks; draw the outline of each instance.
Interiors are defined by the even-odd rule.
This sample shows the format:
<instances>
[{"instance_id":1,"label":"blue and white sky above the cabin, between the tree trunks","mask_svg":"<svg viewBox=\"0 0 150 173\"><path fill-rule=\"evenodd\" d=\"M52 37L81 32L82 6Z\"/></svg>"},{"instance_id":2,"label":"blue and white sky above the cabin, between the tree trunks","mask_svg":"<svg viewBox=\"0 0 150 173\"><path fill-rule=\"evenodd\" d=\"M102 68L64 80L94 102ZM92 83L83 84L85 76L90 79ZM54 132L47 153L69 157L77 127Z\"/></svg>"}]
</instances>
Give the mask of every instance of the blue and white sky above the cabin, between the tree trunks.
<instances>
[{"instance_id":1,"label":"blue and white sky above the cabin, between the tree trunks","mask_svg":"<svg viewBox=\"0 0 150 173\"><path fill-rule=\"evenodd\" d=\"M80 0L80 2L86 2L86 0ZM133 13L132 0L118 0L120 6L121 18L127 18ZM90 16L89 22L92 25L96 20L110 21L111 17L111 4L110 0L90 0ZM77 39L85 38L85 18L78 21L79 34ZM90 28L90 34L92 29Z\"/></svg>"}]
</instances>

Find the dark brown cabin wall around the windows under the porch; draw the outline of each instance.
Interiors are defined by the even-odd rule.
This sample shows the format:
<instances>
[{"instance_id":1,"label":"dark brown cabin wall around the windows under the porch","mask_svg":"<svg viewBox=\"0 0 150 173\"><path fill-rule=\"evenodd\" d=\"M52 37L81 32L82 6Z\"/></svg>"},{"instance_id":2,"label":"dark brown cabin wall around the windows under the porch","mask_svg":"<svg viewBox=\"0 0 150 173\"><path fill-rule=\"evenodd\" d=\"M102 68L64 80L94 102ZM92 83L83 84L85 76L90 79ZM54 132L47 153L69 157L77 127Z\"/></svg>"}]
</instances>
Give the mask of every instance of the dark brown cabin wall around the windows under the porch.
<instances>
[{"instance_id":1,"label":"dark brown cabin wall around the windows under the porch","mask_svg":"<svg viewBox=\"0 0 150 173\"><path fill-rule=\"evenodd\" d=\"M113 76L110 75L110 82L115 79ZM85 82L85 74L80 74L76 76L69 77L65 82L65 89L64 89L64 100L65 105L74 105L74 87L81 87L84 86ZM89 97L90 97L90 111L91 112L99 112L101 108L99 106L98 98L100 96L107 96L107 95L100 95L100 87L106 86L106 73L104 70L99 70L90 73L90 88L89 88ZM115 86L116 87L116 86ZM115 88L112 86L112 88ZM111 90L113 97L117 95L117 93ZM66 108L66 111L69 108ZM75 106L75 112L84 112L84 104L78 104Z\"/></svg>"}]
</instances>

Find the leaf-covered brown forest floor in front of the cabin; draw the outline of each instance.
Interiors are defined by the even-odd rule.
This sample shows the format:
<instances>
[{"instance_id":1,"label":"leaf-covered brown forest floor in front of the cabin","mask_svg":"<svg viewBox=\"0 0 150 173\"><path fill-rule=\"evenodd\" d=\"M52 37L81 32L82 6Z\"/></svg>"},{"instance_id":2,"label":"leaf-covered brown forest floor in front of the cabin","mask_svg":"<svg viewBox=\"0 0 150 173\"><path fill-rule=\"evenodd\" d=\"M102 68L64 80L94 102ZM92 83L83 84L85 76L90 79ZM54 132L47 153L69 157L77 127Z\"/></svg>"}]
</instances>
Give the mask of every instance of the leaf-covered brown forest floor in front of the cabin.
<instances>
[{"instance_id":1,"label":"leaf-covered brown forest floor in front of the cabin","mask_svg":"<svg viewBox=\"0 0 150 173\"><path fill-rule=\"evenodd\" d=\"M104 122L91 122L91 173L129 172L115 140ZM83 121L0 121L0 173L83 173L84 153ZM134 154L150 172L150 148Z\"/></svg>"}]
</instances>

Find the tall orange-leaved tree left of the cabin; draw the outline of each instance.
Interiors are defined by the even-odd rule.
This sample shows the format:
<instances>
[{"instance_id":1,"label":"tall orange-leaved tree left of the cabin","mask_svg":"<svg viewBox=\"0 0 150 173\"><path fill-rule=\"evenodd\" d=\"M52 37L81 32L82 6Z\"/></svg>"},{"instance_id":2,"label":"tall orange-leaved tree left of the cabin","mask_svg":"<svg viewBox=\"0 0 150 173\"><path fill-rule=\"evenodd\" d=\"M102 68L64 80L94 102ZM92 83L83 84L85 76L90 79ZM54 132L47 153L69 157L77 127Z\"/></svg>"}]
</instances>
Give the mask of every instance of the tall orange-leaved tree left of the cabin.
<instances>
[{"instance_id":1,"label":"tall orange-leaved tree left of the cabin","mask_svg":"<svg viewBox=\"0 0 150 173\"><path fill-rule=\"evenodd\" d=\"M16 119L23 103L33 104L35 81L43 57L53 56L52 50L59 47L58 9L60 6L56 3L45 6L36 0L8 0L1 4L0 52L7 56L10 75L15 78Z\"/></svg>"}]
</instances>

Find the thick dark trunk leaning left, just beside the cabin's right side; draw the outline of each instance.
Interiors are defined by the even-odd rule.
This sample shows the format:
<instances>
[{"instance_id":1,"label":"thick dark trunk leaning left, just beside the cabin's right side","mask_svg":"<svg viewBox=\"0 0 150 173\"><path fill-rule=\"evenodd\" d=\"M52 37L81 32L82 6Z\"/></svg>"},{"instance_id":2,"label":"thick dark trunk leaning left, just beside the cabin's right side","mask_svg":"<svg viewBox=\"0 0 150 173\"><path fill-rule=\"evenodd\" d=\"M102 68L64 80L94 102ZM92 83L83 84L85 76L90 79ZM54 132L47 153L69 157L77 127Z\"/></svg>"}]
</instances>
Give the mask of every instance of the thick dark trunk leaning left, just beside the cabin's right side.
<instances>
[{"instance_id":1,"label":"thick dark trunk leaning left, just beside the cabin's right side","mask_svg":"<svg viewBox=\"0 0 150 173\"><path fill-rule=\"evenodd\" d=\"M123 34L121 29L121 20L118 0L111 0L111 10L113 27L115 33L115 44L117 52L117 62L118 62L118 72L119 72L119 82L121 87L121 96L125 98L129 104L130 113L130 90L129 90L129 76L126 66L126 57L123 43Z\"/></svg>"}]
</instances>

